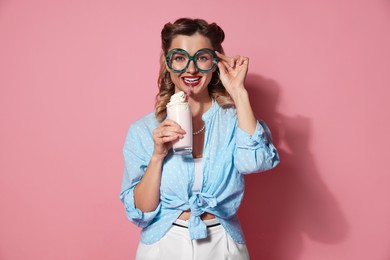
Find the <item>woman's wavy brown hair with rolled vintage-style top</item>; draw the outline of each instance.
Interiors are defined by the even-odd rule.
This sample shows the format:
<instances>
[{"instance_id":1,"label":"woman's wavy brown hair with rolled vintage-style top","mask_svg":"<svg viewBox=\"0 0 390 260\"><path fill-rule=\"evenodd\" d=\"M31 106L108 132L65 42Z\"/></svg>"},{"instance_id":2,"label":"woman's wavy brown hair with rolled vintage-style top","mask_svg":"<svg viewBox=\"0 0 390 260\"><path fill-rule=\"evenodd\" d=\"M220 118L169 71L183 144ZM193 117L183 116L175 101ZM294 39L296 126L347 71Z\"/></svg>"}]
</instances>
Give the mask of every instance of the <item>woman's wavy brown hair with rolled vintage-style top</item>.
<instances>
[{"instance_id":1,"label":"woman's wavy brown hair with rolled vintage-style top","mask_svg":"<svg viewBox=\"0 0 390 260\"><path fill-rule=\"evenodd\" d=\"M164 28L161 31L162 53L160 61L160 73L158 77L159 93L156 95L155 103L155 116L160 122L165 119L167 114L166 105L175 92L175 86L165 66L165 55L168 53L172 40L175 36L191 36L195 33L199 33L207 37L211 41L215 51L224 53L221 44L225 39L225 33L216 23L209 24L202 19L180 18L173 24L167 23L164 25ZM234 105L229 93L226 91L225 87L219 80L218 68L213 73L211 83L208 85L208 91L210 97L215 99L221 107L226 108Z\"/></svg>"}]
</instances>

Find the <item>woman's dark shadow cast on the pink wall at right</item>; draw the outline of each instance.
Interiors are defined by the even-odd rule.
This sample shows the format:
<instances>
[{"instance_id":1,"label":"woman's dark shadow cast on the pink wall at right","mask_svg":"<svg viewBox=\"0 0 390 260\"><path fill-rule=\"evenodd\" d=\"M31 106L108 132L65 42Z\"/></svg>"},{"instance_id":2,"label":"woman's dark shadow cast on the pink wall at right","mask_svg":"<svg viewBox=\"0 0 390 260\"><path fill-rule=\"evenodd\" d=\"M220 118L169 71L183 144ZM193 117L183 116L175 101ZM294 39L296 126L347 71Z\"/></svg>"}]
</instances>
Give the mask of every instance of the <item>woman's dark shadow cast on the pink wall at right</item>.
<instances>
[{"instance_id":1,"label":"woman's dark shadow cast on the pink wall at right","mask_svg":"<svg viewBox=\"0 0 390 260\"><path fill-rule=\"evenodd\" d=\"M304 235L319 243L341 242L348 224L310 152L310 119L277 111L275 81L251 74L246 84L255 114L270 127L281 158L275 169L245 176L239 217L251 258L297 260Z\"/></svg>"}]
</instances>

